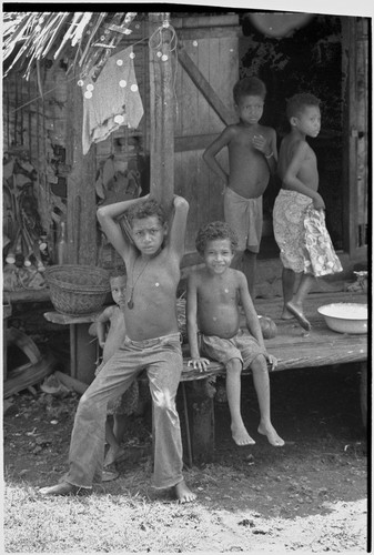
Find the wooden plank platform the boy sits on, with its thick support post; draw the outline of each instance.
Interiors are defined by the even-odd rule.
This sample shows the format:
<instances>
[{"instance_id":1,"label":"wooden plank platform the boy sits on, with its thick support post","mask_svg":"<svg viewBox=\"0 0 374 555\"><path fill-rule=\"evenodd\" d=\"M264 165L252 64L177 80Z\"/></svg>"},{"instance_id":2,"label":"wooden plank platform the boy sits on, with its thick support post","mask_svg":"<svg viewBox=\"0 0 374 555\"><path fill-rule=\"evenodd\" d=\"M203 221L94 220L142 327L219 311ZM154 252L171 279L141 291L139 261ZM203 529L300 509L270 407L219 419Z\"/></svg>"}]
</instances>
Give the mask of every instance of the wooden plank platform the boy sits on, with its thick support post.
<instances>
[{"instance_id":1,"label":"wooden plank platform the boy sits on, with its thick support post","mask_svg":"<svg viewBox=\"0 0 374 555\"><path fill-rule=\"evenodd\" d=\"M305 303L312 330L306 333L295 320L280 320L282 299L256 300L259 314L272 317L277 325L277 335L265 340L265 345L279 363L274 372L293 369L311 369L352 364L361 370L362 405L367 395L367 335L348 335L330 330L317 307L335 302L366 303L367 297L358 293L315 293ZM214 454L214 395L209 386L212 376L224 376L222 364L211 362L206 372L188 366L189 352L184 346L183 373L181 380L182 407L186 436L186 463L210 462ZM250 374L249 371L243 374ZM213 390L214 391L214 390ZM363 418L365 416L363 415Z\"/></svg>"}]
</instances>

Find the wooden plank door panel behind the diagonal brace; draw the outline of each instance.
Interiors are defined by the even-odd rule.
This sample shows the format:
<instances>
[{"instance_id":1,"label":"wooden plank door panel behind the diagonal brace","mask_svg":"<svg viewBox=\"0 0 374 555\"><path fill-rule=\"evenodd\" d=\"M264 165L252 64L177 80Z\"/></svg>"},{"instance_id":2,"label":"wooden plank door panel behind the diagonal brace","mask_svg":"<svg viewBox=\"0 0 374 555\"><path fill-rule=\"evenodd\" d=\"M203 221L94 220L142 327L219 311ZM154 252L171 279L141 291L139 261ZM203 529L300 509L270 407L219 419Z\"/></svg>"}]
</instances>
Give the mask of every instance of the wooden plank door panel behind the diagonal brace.
<instances>
[{"instance_id":1,"label":"wooden plank door panel behind the diagonal brace","mask_svg":"<svg viewBox=\"0 0 374 555\"><path fill-rule=\"evenodd\" d=\"M239 79L240 31L236 17L189 18L172 23L175 26L179 48L184 49L222 102L233 111L232 88ZM184 27L180 27L182 24ZM175 94L175 192L190 202L186 252L194 252L194 238L200 225L223 219L223 184L216 182L202 154L225 124L180 64L176 65ZM196 144L200 148L193 148ZM221 152L219 160L228 167L226 152Z\"/></svg>"}]
</instances>

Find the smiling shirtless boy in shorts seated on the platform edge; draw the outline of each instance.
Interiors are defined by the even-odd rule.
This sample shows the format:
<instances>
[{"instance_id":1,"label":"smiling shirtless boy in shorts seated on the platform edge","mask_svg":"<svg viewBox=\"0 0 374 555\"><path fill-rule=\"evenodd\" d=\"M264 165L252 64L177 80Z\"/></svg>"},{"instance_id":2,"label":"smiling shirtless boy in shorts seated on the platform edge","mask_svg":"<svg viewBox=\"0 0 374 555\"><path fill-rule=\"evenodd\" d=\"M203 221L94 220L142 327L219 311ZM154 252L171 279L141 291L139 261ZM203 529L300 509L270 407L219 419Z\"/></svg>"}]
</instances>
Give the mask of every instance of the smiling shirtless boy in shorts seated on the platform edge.
<instances>
[{"instance_id":1,"label":"smiling shirtless boy in shorts seated on the platform edge","mask_svg":"<svg viewBox=\"0 0 374 555\"><path fill-rule=\"evenodd\" d=\"M200 229L195 244L205 265L194 270L188 280L189 365L201 372L209 365L209 360L201 357L199 352L200 332L202 354L226 367L231 432L237 445L255 443L241 415L241 373L243 369L250 367L261 414L257 432L266 435L271 445L282 446L284 441L274 430L270 416L266 364L269 361L273 370L277 361L266 352L244 274L230 268L237 245L236 235L226 223L213 222ZM240 329L239 303L244 310L250 334Z\"/></svg>"}]
</instances>

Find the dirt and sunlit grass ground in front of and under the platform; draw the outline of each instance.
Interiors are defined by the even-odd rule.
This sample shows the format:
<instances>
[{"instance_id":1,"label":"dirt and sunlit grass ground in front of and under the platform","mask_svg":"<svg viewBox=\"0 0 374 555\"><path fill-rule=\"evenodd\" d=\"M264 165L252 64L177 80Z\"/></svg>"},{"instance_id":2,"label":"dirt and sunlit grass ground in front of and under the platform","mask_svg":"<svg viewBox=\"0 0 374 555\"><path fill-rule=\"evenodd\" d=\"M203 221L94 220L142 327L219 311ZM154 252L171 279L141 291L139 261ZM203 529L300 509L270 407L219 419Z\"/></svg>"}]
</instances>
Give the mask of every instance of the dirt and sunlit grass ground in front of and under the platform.
<instances>
[{"instance_id":1,"label":"dirt and sunlit grass ground in front of and under the platform","mask_svg":"<svg viewBox=\"0 0 374 555\"><path fill-rule=\"evenodd\" d=\"M246 379L245 379L246 380ZM252 382L243 413L253 447L235 447L216 403L214 463L185 471L198 500L178 505L151 487L149 450L87 497L43 498L67 470L78 397L14 395L4 416L3 553L365 553L367 455L358 376L352 369L272 375L273 421L286 440L256 434ZM127 448L149 445L139 418Z\"/></svg>"}]
</instances>

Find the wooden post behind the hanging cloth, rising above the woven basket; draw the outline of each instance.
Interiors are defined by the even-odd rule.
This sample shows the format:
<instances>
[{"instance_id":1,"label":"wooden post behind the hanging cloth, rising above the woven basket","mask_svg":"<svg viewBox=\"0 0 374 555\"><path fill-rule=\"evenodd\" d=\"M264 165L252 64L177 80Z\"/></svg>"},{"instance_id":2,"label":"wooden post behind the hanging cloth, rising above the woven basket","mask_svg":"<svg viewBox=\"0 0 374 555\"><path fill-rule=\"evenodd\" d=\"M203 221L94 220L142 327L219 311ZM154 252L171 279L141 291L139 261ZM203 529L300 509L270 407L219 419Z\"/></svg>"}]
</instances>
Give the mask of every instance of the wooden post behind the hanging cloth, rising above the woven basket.
<instances>
[{"instance_id":1,"label":"wooden post behind the hanging cloth, rising above the woven basket","mask_svg":"<svg viewBox=\"0 0 374 555\"><path fill-rule=\"evenodd\" d=\"M68 88L67 162L71 167L68 175L68 262L94 265L98 251L94 147L83 155L82 91L75 80L70 81Z\"/></svg>"}]
</instances>

